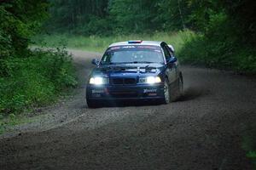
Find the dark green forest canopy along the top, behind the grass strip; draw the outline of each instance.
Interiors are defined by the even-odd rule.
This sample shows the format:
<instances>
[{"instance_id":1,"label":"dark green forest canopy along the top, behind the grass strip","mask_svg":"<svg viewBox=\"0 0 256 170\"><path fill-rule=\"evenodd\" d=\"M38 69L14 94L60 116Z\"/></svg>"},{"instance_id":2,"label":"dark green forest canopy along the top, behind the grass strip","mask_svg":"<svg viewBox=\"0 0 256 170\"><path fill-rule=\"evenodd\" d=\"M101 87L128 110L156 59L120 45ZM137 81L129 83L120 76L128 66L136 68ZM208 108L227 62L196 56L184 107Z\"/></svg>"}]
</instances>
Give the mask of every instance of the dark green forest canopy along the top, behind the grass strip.
<instances>
[{"instance_id":1,"label":"dark green forest canopy along the top, behind the grass strip","mask_svg":"<svg viewBox=\"0 0 256 170\"><path fill-rule=\"evenodd\" d=\"M113 34L176 31L207 32L225 24L242 39L255 43L253 0L49 0L48 31ZM218 20L219 19L219 20ZM213 23L214 22L214 23ZM213 26L214 25L214 26Z\"/></svg>"}]
</instances>

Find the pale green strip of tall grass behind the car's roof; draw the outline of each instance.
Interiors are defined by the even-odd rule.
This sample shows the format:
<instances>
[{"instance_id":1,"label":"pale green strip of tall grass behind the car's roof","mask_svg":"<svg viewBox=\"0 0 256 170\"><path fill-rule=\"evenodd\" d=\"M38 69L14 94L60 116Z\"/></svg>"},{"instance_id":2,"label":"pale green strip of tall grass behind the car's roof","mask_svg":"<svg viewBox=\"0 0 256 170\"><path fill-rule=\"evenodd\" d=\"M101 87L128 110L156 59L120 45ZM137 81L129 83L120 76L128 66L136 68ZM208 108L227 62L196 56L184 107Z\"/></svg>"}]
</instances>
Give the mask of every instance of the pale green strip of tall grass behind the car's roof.
<instances>
[{"instance_id":1,"label":"pale green strip of tall grass behind the car's roof","mask_svg":"<svg viewBox=\"0 0 256 170\"><path fill-rule=\"evenodd\" d=\"M150 40L150 41L165 41L172 44L178 52L183 43L189 41L194 35L193 31L177 31L177 32L154 32L148 34L131 34L131 35L116 35L111 37L100 36L78 36L69 34L53 34L53 35L38 35L33 37L32 42L38 46L58 47L59 45L67 45L67 48L78 48L86 51L104 52L113 42L124 42L128 40Z\"/></svg>"}]
</instances>

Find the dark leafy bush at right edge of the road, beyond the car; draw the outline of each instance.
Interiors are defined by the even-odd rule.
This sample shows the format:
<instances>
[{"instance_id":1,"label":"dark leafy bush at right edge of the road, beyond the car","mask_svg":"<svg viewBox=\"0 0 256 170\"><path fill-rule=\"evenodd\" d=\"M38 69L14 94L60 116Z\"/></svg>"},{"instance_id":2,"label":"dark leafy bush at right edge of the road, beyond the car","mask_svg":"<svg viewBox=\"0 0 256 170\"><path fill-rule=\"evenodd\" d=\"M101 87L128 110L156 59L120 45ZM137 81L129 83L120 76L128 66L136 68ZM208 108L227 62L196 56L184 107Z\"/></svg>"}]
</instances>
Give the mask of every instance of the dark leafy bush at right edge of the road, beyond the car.
<instances>
[{"instance_id":1,"label":"dark leafy bush at right edge of the road, beyond the car","mask_svg":"<svg viewBox=\"0 0 256 170\"><path fill-rule=\"evenodd\" d=\"M256 50L240 41L239 31L224 13L212 13L204 34L185 40L182 61L225 70L256 73Z\"/></svg>"}]
</instances>

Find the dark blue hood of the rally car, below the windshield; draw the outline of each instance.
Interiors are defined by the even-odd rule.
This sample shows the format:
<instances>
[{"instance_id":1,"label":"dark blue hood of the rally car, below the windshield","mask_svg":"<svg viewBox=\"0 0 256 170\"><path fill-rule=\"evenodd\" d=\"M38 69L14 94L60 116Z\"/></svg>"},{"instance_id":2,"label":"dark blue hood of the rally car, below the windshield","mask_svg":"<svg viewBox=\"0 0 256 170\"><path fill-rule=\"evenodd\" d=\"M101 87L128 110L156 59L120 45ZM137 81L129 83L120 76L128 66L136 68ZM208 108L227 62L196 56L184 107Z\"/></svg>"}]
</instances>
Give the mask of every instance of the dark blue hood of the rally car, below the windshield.
<instances>
[{"instance_id":1,"label":"dark blue hood of the rally car, below the windshield","mask_svg":"<svg viewBox=\"0 0 256 170\"><path fill-rule=\"evenodd\" d=\"M150 64L122 64L122 65L100 65L92 72L93 76L143 76L158 75L165 69L165 65L160 63Z\"/></svg>"}]
</instances>

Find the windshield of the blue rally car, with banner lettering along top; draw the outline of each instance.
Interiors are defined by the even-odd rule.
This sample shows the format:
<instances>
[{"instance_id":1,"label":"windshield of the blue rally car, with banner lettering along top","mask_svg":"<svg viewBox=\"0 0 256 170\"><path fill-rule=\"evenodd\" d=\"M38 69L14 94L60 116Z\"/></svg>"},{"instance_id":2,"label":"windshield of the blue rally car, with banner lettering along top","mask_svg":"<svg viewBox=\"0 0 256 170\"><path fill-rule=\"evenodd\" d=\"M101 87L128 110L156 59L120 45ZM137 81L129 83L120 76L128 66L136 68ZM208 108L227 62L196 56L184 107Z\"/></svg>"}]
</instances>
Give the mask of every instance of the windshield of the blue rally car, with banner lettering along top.
<instances>
[{"instance_id":1,"label":"windshield of the blue rally car, with banner lettering along top","mask_svg":"<svg viewBox=\"0 0 256 170\"><path fill-rule=\"evenodd\" d=\"M128 63L164 63L158 46L128 45L108 48L102 57L102 65Z\"/></svg>"}]
</instances>

